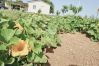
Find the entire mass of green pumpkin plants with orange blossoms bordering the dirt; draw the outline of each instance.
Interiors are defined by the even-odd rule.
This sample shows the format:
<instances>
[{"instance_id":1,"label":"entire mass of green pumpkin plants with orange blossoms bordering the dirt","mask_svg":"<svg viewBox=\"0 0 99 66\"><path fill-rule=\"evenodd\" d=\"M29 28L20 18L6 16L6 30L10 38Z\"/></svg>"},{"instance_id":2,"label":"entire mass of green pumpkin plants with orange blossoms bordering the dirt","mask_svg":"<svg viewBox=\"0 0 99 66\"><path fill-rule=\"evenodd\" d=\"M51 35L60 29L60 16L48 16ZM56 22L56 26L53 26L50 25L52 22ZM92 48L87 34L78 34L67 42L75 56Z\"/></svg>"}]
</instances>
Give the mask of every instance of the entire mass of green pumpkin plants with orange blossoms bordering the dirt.
<instances>
[{"instance_id":1,"label":"entire mass of green pumpkin plants with orange blossoms bordering the dirt","mask_svg":"<svg viewBox=\"0 0 99 66\"><path fill-rule=\"evenodd\" d=\"M95 18L8 12L0 11L0 66L47 63L44 52L58 47L60 33L82 32L99 41L99 20Z\"/></svg>"}]
</instances>

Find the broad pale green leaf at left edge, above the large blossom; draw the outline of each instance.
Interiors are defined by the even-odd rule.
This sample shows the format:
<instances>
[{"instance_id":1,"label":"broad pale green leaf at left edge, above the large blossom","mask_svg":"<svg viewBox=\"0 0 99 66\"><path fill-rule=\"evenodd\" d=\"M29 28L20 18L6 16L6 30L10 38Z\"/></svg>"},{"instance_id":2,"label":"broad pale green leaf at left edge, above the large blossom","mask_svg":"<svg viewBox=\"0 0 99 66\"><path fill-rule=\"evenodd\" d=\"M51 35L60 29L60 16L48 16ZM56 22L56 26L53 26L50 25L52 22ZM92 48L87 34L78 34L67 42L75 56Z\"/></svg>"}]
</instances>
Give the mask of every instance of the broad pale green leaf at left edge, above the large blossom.
<instances>
[{"instance_id":1,"label":"broad pale green leaf at left edge, above the large blossom","mask_svg":"<svg viewBox=\"0 0 99 66\"><path fill-rule=\"evenodd\" d=\"M12 29L1 29L0 30L0 40L8 42L14 35L15 31Z\"/></svg>"}]
</instances>

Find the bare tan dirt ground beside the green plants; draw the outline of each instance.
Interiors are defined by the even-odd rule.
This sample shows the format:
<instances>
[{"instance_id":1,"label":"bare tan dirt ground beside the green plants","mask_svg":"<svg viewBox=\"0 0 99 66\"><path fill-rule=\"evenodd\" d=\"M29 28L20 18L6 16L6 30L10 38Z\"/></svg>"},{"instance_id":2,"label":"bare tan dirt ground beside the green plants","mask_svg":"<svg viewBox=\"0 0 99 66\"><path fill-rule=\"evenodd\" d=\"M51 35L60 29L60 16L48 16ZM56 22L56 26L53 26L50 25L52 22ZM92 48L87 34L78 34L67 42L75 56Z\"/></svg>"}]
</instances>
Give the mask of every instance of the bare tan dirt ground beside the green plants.
<instances>
[{"instance_id":1,"label":"bare tan dirt ground beside the green plants","mask_svg":"<svg viewBox=\"0 0 99 66\"><path fill-rule=\"evenodd\" d=\"M51 66L99 66L99 43L84 34L62 34L61 47L47 53Z\"/></svg>"}]
</instances>

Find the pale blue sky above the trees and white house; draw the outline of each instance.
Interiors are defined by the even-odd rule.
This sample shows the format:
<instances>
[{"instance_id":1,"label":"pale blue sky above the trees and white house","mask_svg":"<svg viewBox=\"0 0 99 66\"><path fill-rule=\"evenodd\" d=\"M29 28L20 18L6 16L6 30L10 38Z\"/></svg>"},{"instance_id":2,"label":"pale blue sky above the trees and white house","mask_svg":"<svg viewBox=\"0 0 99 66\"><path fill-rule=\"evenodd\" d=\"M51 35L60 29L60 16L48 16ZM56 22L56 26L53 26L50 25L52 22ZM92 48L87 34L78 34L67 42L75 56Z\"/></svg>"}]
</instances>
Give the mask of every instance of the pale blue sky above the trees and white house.
<instances>
[{"instance_id":1,"label":"pale blue sky above the trees and white house","mask_svg":"<svg viewBox=\"0 0 99 66\"><path fill-rule=\"evenodd\" d=\"M31 0L23 0L28 2ZM61 10L63 5L73 4L75 6L82 6L83 10L79 13L81 16L96 16L99 8L99 0L52 0L55 5L55 10Z\"/></svg>"}]
</instances>

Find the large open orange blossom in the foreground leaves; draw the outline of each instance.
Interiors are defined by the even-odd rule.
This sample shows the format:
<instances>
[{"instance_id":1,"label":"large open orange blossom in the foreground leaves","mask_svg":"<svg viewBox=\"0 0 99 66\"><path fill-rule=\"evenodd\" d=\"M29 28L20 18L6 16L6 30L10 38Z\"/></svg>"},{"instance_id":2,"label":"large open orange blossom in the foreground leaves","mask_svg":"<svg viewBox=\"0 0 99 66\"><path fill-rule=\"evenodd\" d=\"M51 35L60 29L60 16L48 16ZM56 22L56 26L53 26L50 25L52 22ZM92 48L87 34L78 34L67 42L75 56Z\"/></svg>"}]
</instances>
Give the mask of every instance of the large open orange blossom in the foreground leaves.
<instances>
[{"instance_id":1,"label":"large open orange blossom in the foreground leaves","mask_svg":"<svg viewBox=\"0 0 99 66\"><path fill-rule=\"evenodd\" d=\"M11 46L11 55L13 57L28 55L29 48L28 42L20 40L17 44Z\"/></svg>"}]
</instances>

